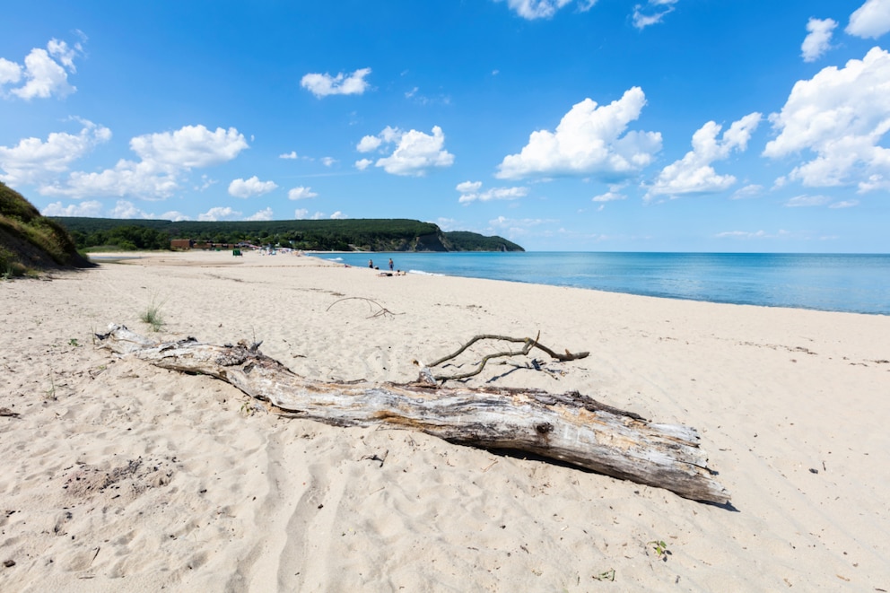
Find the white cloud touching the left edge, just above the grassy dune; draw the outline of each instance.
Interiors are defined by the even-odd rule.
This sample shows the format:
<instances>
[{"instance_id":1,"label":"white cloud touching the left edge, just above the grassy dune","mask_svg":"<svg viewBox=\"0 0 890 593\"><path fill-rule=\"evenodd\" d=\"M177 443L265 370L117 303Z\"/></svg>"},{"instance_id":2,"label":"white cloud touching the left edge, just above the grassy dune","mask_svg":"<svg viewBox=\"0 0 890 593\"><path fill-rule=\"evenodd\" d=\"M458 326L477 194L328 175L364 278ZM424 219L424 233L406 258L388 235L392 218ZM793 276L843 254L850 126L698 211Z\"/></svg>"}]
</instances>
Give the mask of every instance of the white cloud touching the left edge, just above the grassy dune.
<instances>
[{"instance_id":1,"label":"white cloud touching the left edge, just above the grassy dune","mask_svg":"<svg viewBox=\"0 0 890 593\"><path fill-rule=\"evenodd\" d=\"M23 138L13 147L0 146L0 181L21 186L51 179L68 170L68 166L92 148L111 138L111 130L91 121L78 119L83 125L77 135L53 132L46 142L39 138Z\"/></svg>"}]
</instances>

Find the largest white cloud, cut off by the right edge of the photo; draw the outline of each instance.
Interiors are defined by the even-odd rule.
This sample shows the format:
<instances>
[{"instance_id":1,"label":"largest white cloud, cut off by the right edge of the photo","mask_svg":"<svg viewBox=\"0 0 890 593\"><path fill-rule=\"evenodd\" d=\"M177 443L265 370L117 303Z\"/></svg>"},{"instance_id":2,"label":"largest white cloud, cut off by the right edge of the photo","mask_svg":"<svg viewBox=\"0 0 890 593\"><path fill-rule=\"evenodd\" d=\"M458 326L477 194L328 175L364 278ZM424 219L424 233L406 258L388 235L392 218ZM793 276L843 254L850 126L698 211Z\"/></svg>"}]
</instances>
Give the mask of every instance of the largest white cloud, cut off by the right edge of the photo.
<instances>
[{"instance_id":1,"label":"largest white cloud, cut off by the right edge of the photo","mask_svg":"<svg viewBox=\"0 0 890 593\"><path fill-rule=\"evenodd\" d=\"M795 83L781 112L770 116L779 134L763 155L816 156L777 179L777 185L798 180L807 187L890 189L890 149L879 144L890 130L888 87L890 54L882 48Z\"/></svg>"}]
</instances>

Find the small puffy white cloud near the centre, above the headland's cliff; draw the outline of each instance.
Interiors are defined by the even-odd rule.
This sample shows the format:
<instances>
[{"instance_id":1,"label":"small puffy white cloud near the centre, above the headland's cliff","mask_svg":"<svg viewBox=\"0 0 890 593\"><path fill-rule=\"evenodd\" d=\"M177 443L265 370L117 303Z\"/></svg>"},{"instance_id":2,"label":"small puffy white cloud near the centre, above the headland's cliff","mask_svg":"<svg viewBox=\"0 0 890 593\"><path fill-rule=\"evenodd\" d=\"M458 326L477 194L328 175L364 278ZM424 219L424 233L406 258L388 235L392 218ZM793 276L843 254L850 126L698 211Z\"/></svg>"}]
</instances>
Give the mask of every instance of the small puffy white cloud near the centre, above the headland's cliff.
<instances>
[{"instance_id":1,"label":"small puffy white cloud near the centre, above the headland's cliff","mask_svg":"<svg viewBox=\"0 0 890 593\"><path fill-rule=\"evenodd\" d=\"M374 165L392 175L410 175L423 177L433 168L450 167L454 163L454 155L445 150L445 134L439 126L432 127L432 135L417 130L403 132L387 126L379 135L364 136L356 146L360 152L373 150L388 151L395 148L388 156L381 157ZM367 159L356 161L355 166L366 169L370 165Z\"/></svg>"}]
</instances>

